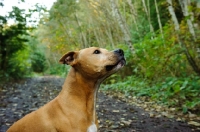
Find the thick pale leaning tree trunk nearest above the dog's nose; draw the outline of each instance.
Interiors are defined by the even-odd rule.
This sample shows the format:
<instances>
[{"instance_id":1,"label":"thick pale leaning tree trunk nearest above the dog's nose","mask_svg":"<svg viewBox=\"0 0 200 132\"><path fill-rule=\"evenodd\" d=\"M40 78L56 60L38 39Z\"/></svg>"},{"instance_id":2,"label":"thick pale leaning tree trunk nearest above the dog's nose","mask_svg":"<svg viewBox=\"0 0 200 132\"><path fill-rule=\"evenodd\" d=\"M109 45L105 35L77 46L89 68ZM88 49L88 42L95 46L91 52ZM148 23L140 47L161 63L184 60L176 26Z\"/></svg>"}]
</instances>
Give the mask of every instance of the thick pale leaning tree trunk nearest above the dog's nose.
<instances>
[{"instance_id":1,"label":"thick pale leaning tree trunk nearest above the dog's nose","mask_svg":"<svg viewBox=\"0 0 200 132\"><path fill-rule=\"evenodd\" d=\"M129 49L131 50L131 52L134 54L134 48L132 46L131 35L127 28L127 25L121 15L121 13L119 12L119 9L115 3L115 0L110 0L110 2L111 2L111 8L113 11L113 16L117 19L120 29L124 34L124 41L129 46Z\"/></svg>"}]
</instances>

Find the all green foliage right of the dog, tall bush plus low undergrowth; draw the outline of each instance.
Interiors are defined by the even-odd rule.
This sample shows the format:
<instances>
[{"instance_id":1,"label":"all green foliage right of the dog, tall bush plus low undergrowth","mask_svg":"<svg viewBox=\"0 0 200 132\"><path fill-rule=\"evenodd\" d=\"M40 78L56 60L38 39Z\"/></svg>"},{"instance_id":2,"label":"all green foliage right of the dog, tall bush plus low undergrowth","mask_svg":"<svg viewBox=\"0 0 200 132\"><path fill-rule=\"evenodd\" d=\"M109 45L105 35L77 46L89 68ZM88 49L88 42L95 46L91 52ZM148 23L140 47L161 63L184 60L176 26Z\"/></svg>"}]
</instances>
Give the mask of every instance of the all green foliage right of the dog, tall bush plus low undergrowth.
<instances>
[{"instance_id":1,"label":"all green foliage right of the dog, tall bush plus low undergrowth","mask_svg":"<svg viewBox=\"0 0 200 132\"><path fill-rule=\"evenodd\" d=\"M152 39L149 33L142 41L134 40L137 42L134 44L135 56L124 45L118 45L126 51L127 65L119 76L111 76L103 89L120 91L126 96L148 96L169 107L179 107L184 113L198 111L200 77L189 65L173 28L166 25L163 29L165 39L159 34ZM190 43L187 44L189 47ZM190 52L195 54L193 50ZM132 75L126 73L127 69Z\"/></svg>"}]
</instances>

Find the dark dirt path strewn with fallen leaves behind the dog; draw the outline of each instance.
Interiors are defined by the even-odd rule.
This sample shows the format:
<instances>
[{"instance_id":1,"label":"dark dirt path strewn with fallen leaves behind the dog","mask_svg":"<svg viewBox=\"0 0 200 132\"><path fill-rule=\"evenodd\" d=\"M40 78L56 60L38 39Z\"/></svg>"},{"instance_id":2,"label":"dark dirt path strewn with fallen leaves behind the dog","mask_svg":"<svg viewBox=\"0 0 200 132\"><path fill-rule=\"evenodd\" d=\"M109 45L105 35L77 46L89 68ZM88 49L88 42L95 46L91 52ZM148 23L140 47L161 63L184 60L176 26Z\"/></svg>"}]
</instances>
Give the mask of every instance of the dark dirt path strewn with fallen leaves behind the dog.
<instances>
[{"instance_id":1,"label":"dark dirt path strewn with fallen leaves behind the dog","mask_svg":"<svg viewBox=\"0 0 200 132\"><path fill-rule=\"evenodd\" d=\"M53 99L64 79L41 77L7 84L0 88L0 132L25 114ZM143 109L98 94L100 132L200 132L199 128L164 117L151 118Z\"/></svg>"}]
</instances>

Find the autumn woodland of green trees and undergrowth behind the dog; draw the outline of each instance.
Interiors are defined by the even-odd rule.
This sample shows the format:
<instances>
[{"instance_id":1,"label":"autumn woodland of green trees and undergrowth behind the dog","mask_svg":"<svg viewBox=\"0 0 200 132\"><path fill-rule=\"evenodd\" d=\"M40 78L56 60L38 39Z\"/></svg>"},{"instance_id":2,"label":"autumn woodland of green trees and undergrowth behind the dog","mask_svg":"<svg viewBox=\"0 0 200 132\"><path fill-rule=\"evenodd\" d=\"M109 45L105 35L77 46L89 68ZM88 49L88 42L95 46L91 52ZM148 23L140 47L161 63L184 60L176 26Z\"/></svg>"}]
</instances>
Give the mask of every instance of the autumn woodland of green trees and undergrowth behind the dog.
<instances>
[{"instance_id":1,"label":"autumn woodland of green trees and undergrowth behind the dog","mask_svg":"<svg viewBox=\"0 0 200 132\"><path fill-rule=\"evenodd\" d=\"M29 12L13 7L0 16L0 83L65 77L69 67L60 57L90 46L125 51L126 66L102 90L200 114L199 0L57 0L50 10L37 4Z\"/></svg>"}]
</instances>

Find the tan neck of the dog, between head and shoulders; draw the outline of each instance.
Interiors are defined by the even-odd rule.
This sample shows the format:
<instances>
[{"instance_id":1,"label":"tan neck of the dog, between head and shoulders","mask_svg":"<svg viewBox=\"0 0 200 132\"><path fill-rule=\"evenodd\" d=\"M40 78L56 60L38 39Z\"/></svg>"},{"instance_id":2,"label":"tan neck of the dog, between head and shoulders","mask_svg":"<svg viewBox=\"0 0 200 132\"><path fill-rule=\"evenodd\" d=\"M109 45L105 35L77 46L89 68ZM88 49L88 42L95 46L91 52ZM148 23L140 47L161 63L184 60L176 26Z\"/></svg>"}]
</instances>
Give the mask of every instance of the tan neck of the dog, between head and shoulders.
<instances>
[{"instance_id":1,"label":"tan neck of the dog, between head and shoulders","mask_svg":"<svg viewBox=\"0 0 200 132\"><path fill-rule=\"evenodd\" d=\"M100 83L101 81L99 80L88 80L84 78L72 67L68 73L60 95L63 99L66 99L66 101L68 98L73 96L73 99L80 102L77 107L83 111L86 110L89 120L95 123L96 97Z\"/></svg>"}]
</instances>

